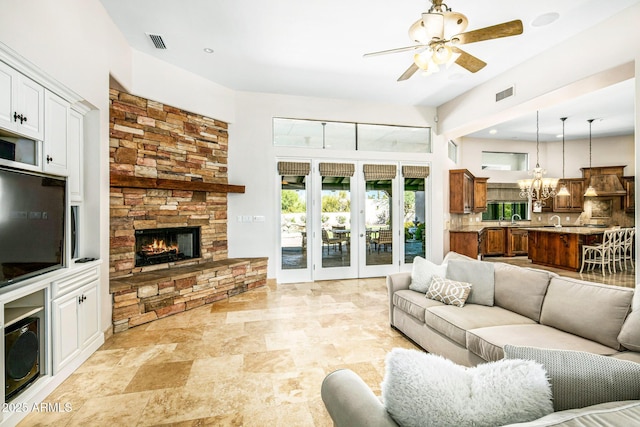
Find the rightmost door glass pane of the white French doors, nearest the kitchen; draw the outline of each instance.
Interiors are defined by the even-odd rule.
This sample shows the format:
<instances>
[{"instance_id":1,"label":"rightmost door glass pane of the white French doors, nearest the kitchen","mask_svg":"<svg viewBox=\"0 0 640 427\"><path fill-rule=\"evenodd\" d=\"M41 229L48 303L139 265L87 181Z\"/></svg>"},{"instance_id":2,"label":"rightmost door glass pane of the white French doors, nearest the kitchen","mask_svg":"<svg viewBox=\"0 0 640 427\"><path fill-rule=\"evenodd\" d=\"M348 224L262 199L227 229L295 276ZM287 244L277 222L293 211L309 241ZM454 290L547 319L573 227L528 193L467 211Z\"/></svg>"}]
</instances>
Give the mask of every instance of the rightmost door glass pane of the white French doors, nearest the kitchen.
<instances>
[{"instance_id":1,"label":"rightmost door glass pane of the white French doors, nearest the kitchen","mask_svg":"<svg viewBox=\"0 0 640 427\"><path fill-rule=\"evenodd\" d=\"M404 180L404 262L425 257L424 178Z\"/></svg>"}]
</instances>

